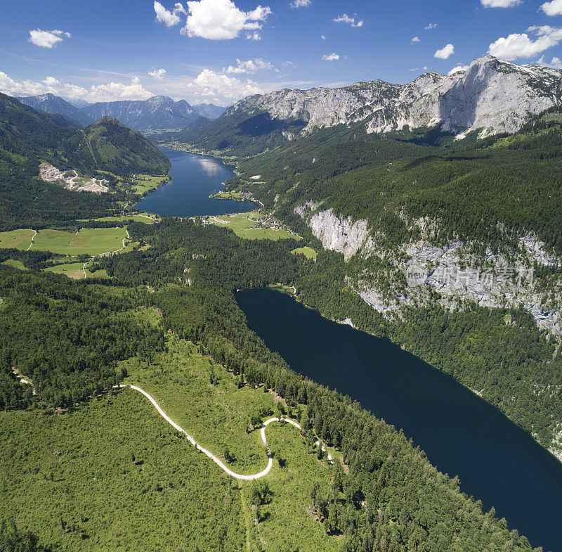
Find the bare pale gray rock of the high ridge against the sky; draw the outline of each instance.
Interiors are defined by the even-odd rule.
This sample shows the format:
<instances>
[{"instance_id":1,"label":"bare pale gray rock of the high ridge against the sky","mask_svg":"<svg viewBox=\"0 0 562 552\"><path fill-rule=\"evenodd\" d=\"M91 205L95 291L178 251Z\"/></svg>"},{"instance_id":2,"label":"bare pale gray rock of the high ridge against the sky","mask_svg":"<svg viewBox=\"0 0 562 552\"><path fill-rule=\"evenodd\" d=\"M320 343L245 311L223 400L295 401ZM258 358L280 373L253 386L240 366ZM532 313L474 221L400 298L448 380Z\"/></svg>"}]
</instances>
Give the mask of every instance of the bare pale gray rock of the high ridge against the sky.
<instances>
[{"instance_id":1,"label":"bare pale gray rock of the high ridge against the sky","mask_svg":"<svg viewBox=\"0 0 562 552\"><path fill-rule=\"evenodd\" d=\"M303 120L305 135L365 121L367 132L439 126L461 135L478 129L486 136L514 132L561 100L562 71L485 56L450 76L431 72L405 85L377 80L336 89L284 89L244 98L226 113L267 111L280 120Z\"/></svg>"}]
</instances>

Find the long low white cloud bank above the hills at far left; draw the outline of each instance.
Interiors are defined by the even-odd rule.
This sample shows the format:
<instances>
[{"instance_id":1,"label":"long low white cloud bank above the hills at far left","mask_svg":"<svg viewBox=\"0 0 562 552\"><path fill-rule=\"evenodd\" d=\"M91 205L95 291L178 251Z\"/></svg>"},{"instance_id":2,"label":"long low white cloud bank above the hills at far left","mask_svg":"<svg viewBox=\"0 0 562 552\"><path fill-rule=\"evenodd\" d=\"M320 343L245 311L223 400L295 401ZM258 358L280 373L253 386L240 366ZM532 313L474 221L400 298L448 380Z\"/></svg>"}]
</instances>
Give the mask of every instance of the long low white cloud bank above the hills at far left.
<instances>
[{"instance_id":1,"label":"long low white cloud bank above the hills at far left","mask_svg":"<svg viewBox=\"0 0 562 552\"><path fill-rule=\"evenodd\" d=\"M1 71L0 92L10 96L37 96L37 94L50 92L55 96L91 103L96 101L145 100L154 96L152 92L143 88L138 77L133 77L130 84L108 82L107 84L94 84L89 88L84 88L84 86L60 82L55 77L46 77L41 82L16 81Z\"/></svg>"}]
</instances>

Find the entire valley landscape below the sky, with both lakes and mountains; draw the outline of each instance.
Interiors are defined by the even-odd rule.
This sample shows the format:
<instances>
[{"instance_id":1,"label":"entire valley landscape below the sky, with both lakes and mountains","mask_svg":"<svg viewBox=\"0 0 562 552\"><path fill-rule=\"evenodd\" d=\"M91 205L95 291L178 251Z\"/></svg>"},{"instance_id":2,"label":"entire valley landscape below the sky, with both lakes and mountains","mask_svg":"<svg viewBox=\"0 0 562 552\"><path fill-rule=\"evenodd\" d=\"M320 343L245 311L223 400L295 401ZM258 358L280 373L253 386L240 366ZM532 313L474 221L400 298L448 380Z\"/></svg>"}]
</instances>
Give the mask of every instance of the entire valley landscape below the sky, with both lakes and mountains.
<instances>
[{"instance_id":1,"label":"entire valley landscape below the sky, with both lakes and mountains","mask_svg":"<svg viewBox=\"0 0 562 552\"><path fill-rule=\"evenodd\" d=\"M486 56L212 120L1 95L0 519L53 550L558 550L560 77Z\"/></svg>"}]
</instances>

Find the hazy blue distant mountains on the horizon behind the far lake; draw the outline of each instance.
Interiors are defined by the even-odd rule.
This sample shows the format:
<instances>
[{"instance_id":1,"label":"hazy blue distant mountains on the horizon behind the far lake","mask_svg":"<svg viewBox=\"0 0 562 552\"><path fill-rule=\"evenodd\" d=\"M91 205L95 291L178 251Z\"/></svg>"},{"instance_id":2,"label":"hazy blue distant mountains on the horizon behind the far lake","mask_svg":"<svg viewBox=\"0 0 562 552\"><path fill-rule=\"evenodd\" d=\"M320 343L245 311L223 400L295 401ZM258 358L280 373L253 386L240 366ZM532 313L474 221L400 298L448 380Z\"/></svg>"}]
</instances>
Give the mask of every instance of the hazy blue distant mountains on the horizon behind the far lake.
<instances>
[{"instance_id":1,"label":"hazy blue distant mountains on the horizon behind the far lake","mask_svg":"<svg viewBox=\"0 0 562 552\"><path fill-rule=\"evenodd\" d=\"M185 100L174 101L168 96L81 105L73 105L54 94L20 97L18 100L44 113L64 115L81 127L102 117L115 117L126 126L141 131L182 129L200 117L215 119L226 109L212 103L192 106Z\"/></svg>"}]
</instances>

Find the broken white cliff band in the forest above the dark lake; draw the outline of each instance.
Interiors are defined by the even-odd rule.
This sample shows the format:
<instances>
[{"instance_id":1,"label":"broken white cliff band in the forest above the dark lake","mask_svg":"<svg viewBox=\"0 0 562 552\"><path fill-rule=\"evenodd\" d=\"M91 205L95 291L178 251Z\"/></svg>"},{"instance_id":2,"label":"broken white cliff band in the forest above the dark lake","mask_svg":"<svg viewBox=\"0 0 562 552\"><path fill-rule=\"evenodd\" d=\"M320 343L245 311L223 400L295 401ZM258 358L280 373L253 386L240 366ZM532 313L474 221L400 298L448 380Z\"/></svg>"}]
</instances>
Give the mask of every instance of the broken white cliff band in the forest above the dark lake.
<instances>
[{"instance_id":1,"label":"broken white cliff band in the forest above the dark lake","mask_svg":"<svg viewBox=\"0 0 562 552\"><path fill-rule=\"evenodd\" d=\"M447 309L462 309L471 303L482 307L519 307L532 314L537 326L552 335L562 335L562 310L556 297L562 295L562 282L555 293L546 293L535 280L533 264L560 264L544 243L532 234L520 236L518 248L504 253L489 248L483 255L473 252L473 244L455 240L446 245L433 245L430 236L435 224L427 219L410 221L422 238L388 250L381 236L370 230L365 220L352 221L338 217L332 209L320 209L311 202L296 207L322 245L344 254L365 259L384 259L386 272L365 270L348 278L348 285L378 312L401 316L407 306L427 304L431 290ZM405 285L407 271L417 267L422 275L417 285ZM411 284L411 282L410 282Z\"/></svg>"}]
</instances>

